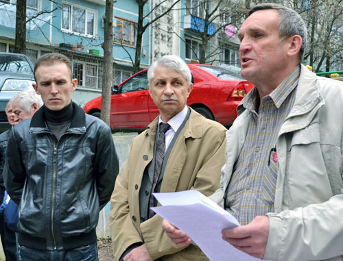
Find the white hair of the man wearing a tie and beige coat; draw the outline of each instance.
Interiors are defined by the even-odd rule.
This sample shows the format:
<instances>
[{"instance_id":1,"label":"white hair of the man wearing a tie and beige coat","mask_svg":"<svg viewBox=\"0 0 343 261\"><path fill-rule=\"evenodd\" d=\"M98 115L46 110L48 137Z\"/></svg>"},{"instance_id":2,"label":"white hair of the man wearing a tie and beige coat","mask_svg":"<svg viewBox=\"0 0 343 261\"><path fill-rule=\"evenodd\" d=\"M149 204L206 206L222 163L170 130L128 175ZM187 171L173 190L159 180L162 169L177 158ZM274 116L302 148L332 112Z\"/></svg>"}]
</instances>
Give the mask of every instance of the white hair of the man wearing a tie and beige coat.
<instances>
[{"instance_id":1,"label":"white hair of the man wearing a tie and beige coat","mask_svg":"<svg viewBox=\"0 0 343 261\"><path fill-rule=\"evenodd\" d=\"M147 70L147 80L149 81L150 86L152 86L151 80L152 78L154 78L154 71L156 69L156 66L165 66L170 69L175 69L179 73L182 73L183 76L185 76L188 87L191 84L191 70L189 69L185 61L176 55L164 55L156 60L152 65L150 65L149 69Z\"/></svg>"}]
</instances>

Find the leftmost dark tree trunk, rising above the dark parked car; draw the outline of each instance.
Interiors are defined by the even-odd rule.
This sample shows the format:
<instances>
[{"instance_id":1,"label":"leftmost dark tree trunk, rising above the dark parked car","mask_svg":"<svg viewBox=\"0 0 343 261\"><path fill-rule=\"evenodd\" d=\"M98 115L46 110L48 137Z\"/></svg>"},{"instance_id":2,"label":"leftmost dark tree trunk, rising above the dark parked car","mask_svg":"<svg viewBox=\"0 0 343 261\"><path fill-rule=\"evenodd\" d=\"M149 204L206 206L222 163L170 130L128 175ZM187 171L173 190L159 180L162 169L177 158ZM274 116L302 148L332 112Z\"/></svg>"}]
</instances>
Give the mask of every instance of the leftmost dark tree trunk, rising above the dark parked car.
<instances>
[{"instance_id":1,"label":"leftmost dark tree trunk, rising above the dark parked car","mask_svg":"<svg viewBox=\"0 0 343 261\"><path fill-rule=\"evenodd\" d=\"M26 50L26 0L16 1L16 36L14 52L25 54Z\"/></svg>"}]
</instances>

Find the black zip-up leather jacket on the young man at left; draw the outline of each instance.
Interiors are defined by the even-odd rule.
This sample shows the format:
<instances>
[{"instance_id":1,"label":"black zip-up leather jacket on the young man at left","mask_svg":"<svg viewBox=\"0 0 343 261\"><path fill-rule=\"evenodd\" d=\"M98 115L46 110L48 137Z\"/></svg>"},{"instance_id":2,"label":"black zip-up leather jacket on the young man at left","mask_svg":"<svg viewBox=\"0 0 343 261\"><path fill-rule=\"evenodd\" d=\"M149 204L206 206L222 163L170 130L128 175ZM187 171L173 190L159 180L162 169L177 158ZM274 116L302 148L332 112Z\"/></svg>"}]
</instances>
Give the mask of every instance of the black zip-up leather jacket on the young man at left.
<instances>
[{"instance_id":1,"label":"black zip-up leather jacket on the young man at left","mask_svg":"<svg viewBox=\"0 0 343 261\"><path fill-rule=\"evenodd\" d=\"M71 125L56 140L44 118L40 108L8 140L3 177L19 204L19 243L45 250L94 243L119 171L110 127L73 103Z\"/></svg>"}]
</instances>

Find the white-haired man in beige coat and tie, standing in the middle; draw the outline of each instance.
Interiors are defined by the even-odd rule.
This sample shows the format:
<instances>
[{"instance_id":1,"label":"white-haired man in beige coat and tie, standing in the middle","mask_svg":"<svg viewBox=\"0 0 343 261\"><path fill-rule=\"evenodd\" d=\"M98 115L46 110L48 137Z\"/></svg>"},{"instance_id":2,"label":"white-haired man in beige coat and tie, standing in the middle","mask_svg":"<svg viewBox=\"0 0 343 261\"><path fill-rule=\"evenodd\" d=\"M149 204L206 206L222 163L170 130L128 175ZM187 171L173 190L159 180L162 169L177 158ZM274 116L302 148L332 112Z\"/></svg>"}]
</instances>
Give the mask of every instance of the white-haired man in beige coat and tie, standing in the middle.
<instances>
[{"instance_id":1,"label":"white-haired man in beige coat and tie, standing in the middle","mask_svg":"<svg viewBox=\"0 0 343 261\"><path fill-rule=\"evenodd\" d=\"M177 56L165 55L154 62L147 77L160 116L134 139L117 177L110 210L115 258L207 260L196 246L178 249L171 243L161 217L149 211L157 204L151 194L196 189L211 195L219 187L225 162L226 129L187 107L193 88L191 72ZM165 123L169 126L161 134ZM165 135L165 154L157 166L159 145L155 145L160 144L161 135ZM155 179L158 168L161 172Z\"/></svg>"}]
</instances>

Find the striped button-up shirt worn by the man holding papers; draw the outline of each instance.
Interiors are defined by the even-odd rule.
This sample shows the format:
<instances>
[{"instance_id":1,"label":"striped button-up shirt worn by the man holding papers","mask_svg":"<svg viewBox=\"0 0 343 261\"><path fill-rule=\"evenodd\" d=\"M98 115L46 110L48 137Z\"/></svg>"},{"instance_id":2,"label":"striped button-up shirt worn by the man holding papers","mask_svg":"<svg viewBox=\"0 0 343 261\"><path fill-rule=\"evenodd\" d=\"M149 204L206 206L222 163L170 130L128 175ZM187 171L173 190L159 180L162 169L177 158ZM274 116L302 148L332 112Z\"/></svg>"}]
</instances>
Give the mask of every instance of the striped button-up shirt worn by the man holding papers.
<instances>
[{"instance_id":1,"label":"striped button-up shirt worn by the man holding papers","mask_svg":"<svg viewBox=\"0 0 343 261\"><path fill-rule=\"evenodd\" d=\"M237 108L238 114L243 110L252 112L226 199L226 210L241 225L250 223L255 216L274 211L278 168L274 146L281 125L294 105L299 75L300 66L296 66L262 101L254 88Z\"/></svg>"}]
</instances>

